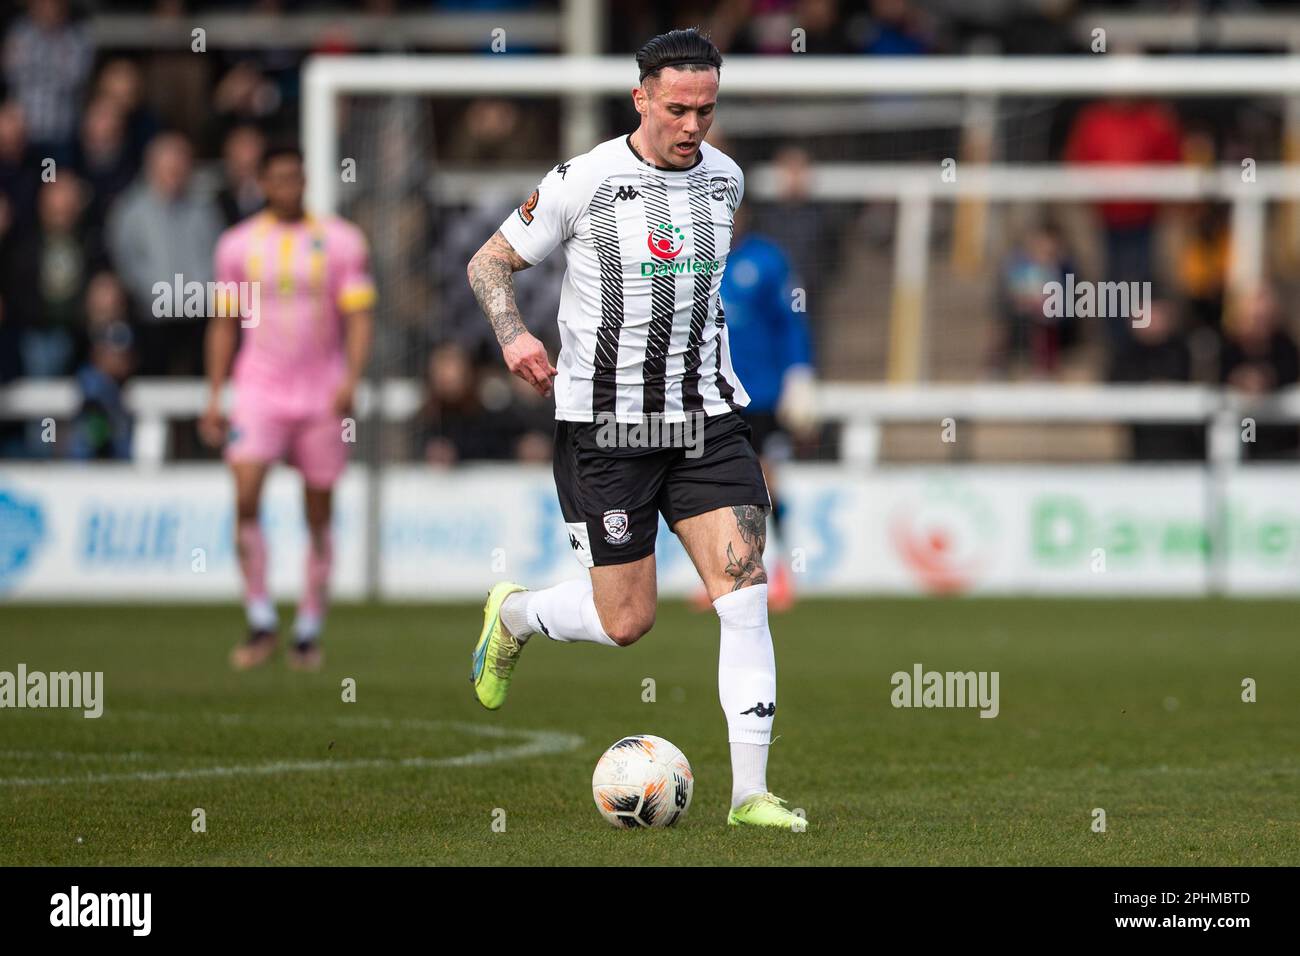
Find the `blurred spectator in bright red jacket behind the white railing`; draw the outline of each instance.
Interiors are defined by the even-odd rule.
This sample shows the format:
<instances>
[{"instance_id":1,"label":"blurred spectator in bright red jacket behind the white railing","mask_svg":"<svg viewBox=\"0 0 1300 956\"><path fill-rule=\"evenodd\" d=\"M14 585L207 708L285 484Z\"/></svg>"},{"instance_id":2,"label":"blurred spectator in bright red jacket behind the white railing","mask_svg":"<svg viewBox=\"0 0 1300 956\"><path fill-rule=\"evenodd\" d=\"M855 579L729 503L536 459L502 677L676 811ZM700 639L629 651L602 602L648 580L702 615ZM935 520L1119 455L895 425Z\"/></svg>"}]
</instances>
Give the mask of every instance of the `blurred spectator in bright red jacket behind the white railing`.
<instances>
[{"instance_id":1,"label":"blurred spectator in bright red jacket behind the white railing","mask_svg":"<svg viewBox=\"0 0 1300 956\"><path fill-rule=\"evenodd\" d=\"M1173 112L1161 103L1115 96L1084 107L1075 117L1065 147L1067 163L1148 164L1178 163L1182 134ZM1106 282L1149 282L1152 228L1157 206L1152 202L1097 204L1105 237ZM1113 347L1131 341L1131 323L1115 316L1106 323Z\"/></svg>"}]
</instances>

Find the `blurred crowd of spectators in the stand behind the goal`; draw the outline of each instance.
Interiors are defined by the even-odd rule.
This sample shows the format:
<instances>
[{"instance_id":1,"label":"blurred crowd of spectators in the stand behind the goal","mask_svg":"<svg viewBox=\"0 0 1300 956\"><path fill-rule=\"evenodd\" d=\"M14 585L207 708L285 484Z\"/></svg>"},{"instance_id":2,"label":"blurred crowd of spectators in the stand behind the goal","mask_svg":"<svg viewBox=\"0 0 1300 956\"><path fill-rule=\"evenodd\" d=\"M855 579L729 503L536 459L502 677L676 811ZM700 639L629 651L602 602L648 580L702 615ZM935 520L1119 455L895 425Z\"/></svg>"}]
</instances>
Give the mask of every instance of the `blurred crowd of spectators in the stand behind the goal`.
<instances>
[{"instance_id":1,"label":"blurred crowd of spectators in the stand behind the goal","mask_svg":"<svg viewBox=\"0 0 1300 956\"><path fill-rule=\"evenodd\" d=\"M373 16L559 9L555 1L511 0L365 0L346 10L306 0L214 0L202 7L226 13ZM1030 13L1010 0L978 7L968 9L956 0L670 0L656 5L611 0L604 44L610 52L627 53L654 33L694 22L710 30L724 55L793 55L794 27L810 55L958 53L972 38L991 34L1008 53L1078 51L1069 3L1039 5ZM1013 8L1017 16L1010 16ZM296 131L299 66L312 52L264 44L208 56L126 51L120 44L96 49L88 14L108 12L177 18L186 5L181 0L112 5L27 0L0 14L0 385L17 378L74 380L82 395L74 421L77 441L57 454L81 458L129 455L131 418L122 403L127 380L202 373L205 320L156 315L155 285L170 284L176 276L199 282L212 278L220 233L260 208L259 159L268 143ZM344 31L320 48L356 47ZM1261 133L1258 124L1248 129L1242 120L1251 116L1248 111L1205 120L1180 109L1176 101L1134 98L1053 104L1060 130L1043 159L1080 165L1209 164L1235 163L1244 155L1266 161L1280 152L1279 131ZM360 108L342 112L344 126L365 116ZM554 160L558 112L551 107L476 98L430 107L430 112L428 142L403 143L389 152L436 156L448 166L474 170L540 169ZM627 122L625 114L608 113L607 134ZM933 156L905 159L937 159L956 147L952 139ZM771 203L746 202L753 209L751 228L781 248L809 300L826 302L841 273L854 269L849 256L862 250L852 242L852 230L871 211L810 200L811 170L818 161L846 159L850 150L857 155L857 147L841 140L828 152L815 137L794 139L776 131L767 140L737 137L724 148L742 165L759 159L774 165L777 196ZM862 157L904 159L870 150ZM463 273L464 263L517 196L482 193L432 200L424 191L428 169L415 179L404 186L410 195L398 207L399 216L373 196L348 209L370 233L372 243L380 230L394 230L402 248L389 261L403 258L402 268L416 276L415 291L406 297L410 334L400 362L385 365L386 372L420 375L425 381L421 419L407 434L406 454L438 466L473 459L543 460L547 408L503 373ZM1112 381L1222 382L1265 394L1300 377L1287 277L1230 294L1228 224L1222 206L1126 200L1098 203L1087 213L1084 239L1096 251L1091 276L1078 230L1065 228L1052 207L1039 209L989 267L994 297L987 312L994 334L983 358L985 375L1069 377L1074 359L1092 349L1089 354L1100 358L1088 365L1088 375ZM1167 261L1157 252L1164 232L1175 235ZM377 263L381 325L384 310L391 307L384 302L385 284L391 291L395 282L384 265ZM552 352L562 269L562 258L554 256L516 277L521 312ZM1072 274L1152 282L1150 321L1087 323L1048 315L1044 286ZM389 295L389 303L398 298ZM815 310L807 319L815 351L833 351L833 342L826 341L833 332ZM1252 454L1294 450L1295 429L1283 428L1261 438ZM48 454L51 449L30 425L0 420L0 457ZM1135 429L1134 454L1197 458L1204 454L1204 436L1161 427Z\"/></svg>"}]
</instances>

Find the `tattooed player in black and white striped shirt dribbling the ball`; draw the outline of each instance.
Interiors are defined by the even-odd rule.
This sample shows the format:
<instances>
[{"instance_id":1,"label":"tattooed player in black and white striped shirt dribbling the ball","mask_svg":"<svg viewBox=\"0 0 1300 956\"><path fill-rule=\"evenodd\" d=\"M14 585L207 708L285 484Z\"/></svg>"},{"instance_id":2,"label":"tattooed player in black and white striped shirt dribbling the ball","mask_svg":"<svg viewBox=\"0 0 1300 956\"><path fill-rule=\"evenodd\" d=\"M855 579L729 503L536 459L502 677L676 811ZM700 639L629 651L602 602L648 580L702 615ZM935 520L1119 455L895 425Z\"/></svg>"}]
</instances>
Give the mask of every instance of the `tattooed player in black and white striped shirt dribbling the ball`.
<instances>
[{"instance_id":1,"label":"tattooed player in black and white striped shirt dribbling the ball","mask_svg":"<svg viewBox=\"0 0 1300 956\"><path fill-rule=\"evenodd\" d=\"M722 55L696 30L637 52L641 124L560 163L469 261L469 284L514 375L555 395L555 488L588 580L488 596L472 656L478 701L500 708L524 646L627 646L654 624L659 515L681 540L718 613L718 693L732 760L728 823L802 829L767 787L776 658L763 546L771 499L738 411L720 299L740 166L705 142ZM560 351L520 319L512 274L564 247ZM701 441L619 446L608 425L698 425ZM612 446L611 446L612 445ZM627 444L624 444L627 445Z\"/></svg>"}]
</instances>

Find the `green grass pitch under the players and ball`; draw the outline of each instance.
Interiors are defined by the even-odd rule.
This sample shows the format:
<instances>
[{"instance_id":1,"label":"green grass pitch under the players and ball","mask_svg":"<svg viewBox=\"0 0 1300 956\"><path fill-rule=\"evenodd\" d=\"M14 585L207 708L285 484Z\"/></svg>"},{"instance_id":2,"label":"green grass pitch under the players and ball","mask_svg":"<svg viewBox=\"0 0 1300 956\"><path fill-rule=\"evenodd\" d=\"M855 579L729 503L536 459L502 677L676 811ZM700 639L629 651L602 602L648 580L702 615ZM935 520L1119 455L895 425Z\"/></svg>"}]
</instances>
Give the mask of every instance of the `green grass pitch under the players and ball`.
<instances>
[{"instance_id":1,"label":"green grass pitch under the players and ball","mask_svg":"<svg viewBox=\"0 0 1300 956\"><path fill-rule=\"evenodd\" d=\"M337 607L318 675L233 674L231 606L0 607L0 670L104 671L105 697L0 710L0 865L1296 865L1297 610L805 601L772 619L768 782L811 823L790 834L724 823L718 623L680 604L623 650L534 639L494 714L467 679L478 606ZM1000 715L894 709L916 662L998 671ZM673 830L593 805L634 732L696 770Z\"/></svg>"}]
</instances>

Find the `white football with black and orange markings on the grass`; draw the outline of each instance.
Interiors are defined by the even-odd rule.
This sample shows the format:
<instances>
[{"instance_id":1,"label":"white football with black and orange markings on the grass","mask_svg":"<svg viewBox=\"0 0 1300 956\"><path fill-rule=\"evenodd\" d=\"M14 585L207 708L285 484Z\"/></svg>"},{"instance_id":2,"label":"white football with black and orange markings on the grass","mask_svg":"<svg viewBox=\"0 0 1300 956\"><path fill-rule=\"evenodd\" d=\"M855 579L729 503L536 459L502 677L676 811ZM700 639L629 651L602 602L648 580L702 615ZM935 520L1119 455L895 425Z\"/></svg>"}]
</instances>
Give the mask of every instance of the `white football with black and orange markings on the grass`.
<instances>
[{"instance_id":1,"label":"white football with black and orange markings on the grass","mask_svg":"<svg viewBox=\"0 0 1300 956\"><path fill-rule=\"evenodd\" d=\"M616 827L672 826L690 809L694 788L686 754L650 734L623 737L592 774L595 806Z\"/></svg>"}]
</instances>

